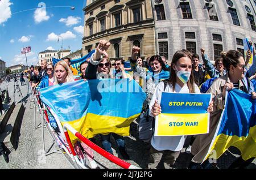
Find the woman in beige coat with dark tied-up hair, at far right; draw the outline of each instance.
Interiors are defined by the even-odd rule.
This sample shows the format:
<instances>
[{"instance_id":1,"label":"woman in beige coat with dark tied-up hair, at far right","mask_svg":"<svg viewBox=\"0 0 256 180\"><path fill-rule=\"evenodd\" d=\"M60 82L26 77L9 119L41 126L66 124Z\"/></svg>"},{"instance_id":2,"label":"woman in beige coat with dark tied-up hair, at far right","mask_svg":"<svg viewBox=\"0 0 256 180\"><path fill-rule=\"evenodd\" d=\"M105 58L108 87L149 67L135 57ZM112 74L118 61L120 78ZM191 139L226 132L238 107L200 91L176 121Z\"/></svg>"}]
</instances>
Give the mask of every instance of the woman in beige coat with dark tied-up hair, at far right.
<instances>
[{"instance_id":1,"label":"woman in beige coat with dark tied-up hair, at far right","mask_svg":"<svg viewBox=\"0 0 256 180\"><path fill-rule=\"evenodd\" d=\"M255 99L256 93L249 79L247 79L249 84L245 84L242 81L242 79L245 78L245 60L243 59L243 54L237 50L229 50L227 53L221 53L221 58L223 59L224 67L228 73L214 80L207 91L207 93L212 93L214 101L213 113L210 114L209 134L196 136L191 149L191 153L195 156L189 168L198 168L207 155L218 122L220 121L222 110L225 108L226 89L228 91L233 88L239 89L245 93L251 94L251 98ZM201 168L209 168L209 166L209 161L205 161L201 165Z\"/></svg>"}]
</instances>

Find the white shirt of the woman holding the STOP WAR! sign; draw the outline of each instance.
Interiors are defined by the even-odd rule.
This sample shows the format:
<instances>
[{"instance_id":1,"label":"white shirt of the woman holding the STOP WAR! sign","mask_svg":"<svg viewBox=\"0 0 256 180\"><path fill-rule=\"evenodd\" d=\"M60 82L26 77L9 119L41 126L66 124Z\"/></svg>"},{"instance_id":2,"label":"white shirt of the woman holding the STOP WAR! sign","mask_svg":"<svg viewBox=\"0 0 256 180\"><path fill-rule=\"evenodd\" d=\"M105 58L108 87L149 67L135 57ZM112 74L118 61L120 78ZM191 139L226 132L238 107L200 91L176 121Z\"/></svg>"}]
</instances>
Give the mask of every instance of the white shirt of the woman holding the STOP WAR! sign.
<instances>
[{"instance_id":1,"label":"white shirt of the woman holding the STOP WAR! sign","mask_svg":"<svg viewBox=\"0 0 256 180\"><path fill-rule=\"evenodd\" d=\"M200 94L200 90L195 85L195 92L197 94ZM160 82L156 88L154 95L152 97L152 100L150 102L150 115L154 117L154 115L151 114L152 106L155 104L155 100L158 100L158 103L160 104L162 92L164 90L164 83ZM168 83L166 86L166 90L164 92L172 92L172 85L171 83ZM174 92L176 93L189 93L189 89L187 84L185 84L182 88L179 84L175 84ZM185 139L187 136L152 136L151 138L151 145L158 151L164 151L164 150L170 150L170 151L180 151L183 148L183 145L185 143Z\"/></svg>"}]
</instances>

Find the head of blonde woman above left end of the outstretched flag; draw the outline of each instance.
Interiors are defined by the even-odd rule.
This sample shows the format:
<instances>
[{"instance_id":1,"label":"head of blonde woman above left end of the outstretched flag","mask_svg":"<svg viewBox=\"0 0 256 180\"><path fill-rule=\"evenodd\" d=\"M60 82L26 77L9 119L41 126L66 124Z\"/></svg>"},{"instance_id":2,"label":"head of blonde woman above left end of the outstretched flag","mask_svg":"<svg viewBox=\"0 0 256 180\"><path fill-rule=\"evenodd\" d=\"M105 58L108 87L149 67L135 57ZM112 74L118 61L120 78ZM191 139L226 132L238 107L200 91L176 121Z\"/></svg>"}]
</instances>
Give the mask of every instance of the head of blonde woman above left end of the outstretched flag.
<instances>
[{"instance_id":1,"label":"head of blonde woman above left end of the outstretched flag","mask_svg":"<svg viewBox=\"0 0 256 180\"><path fill-rule=\"evenodd\" d=\"M53 85L74 81L73 73L71 69L68 67L68 64L63 60L57 62L56 65L54 66L53 76L54 76Z\"/></svg>"}]
</instances>

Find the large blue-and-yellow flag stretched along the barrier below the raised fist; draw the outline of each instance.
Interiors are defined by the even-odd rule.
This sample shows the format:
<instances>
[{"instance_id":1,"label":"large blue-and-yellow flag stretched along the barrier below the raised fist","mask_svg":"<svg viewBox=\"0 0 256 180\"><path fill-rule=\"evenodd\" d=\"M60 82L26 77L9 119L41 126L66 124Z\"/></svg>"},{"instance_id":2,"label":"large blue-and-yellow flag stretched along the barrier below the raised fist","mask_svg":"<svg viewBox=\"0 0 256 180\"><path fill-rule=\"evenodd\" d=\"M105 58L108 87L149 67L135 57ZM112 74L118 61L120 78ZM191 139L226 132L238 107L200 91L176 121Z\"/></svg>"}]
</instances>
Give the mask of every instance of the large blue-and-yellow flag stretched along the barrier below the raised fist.
<instances>
[{"instance_id":1,"label":"large blue-and-yellow flag stretched along the barrier below the raised fist","mask_svg":"<svg viewBox=\"0 0 256 180\"><path fill-rule=\"evenodd\" d=\"M96 134L129 135L146 94L134 80L79 80L40 89L42 101L86 138ZM71 140L76 140L71 135Z\"/></svg>"}]
</instances>

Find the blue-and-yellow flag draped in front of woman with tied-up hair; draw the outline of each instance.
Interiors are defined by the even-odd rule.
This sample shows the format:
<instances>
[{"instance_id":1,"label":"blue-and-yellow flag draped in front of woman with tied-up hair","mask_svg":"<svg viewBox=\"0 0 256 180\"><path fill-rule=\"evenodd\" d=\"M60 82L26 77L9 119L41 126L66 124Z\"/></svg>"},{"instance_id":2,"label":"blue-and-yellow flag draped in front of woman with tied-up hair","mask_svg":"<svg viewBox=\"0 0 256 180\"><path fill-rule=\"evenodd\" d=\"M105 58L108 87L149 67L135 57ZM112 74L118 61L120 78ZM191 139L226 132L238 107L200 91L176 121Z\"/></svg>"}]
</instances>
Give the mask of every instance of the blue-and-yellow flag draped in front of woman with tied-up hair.
<instances>
[{"instance_id":1,"label":"blue-and-yellow flag draped in front of woman with tied-up hair","mask_svg":"<svg viewBox=\"0 0 256 180\"><path fill-rule=\"evenodd\" d=\"M225 109L218 123L207 158L219 158L230 146L241 151L243 160L256 157L255 101L238 89L226 96Z\"/></svg>"}]
</instances>

